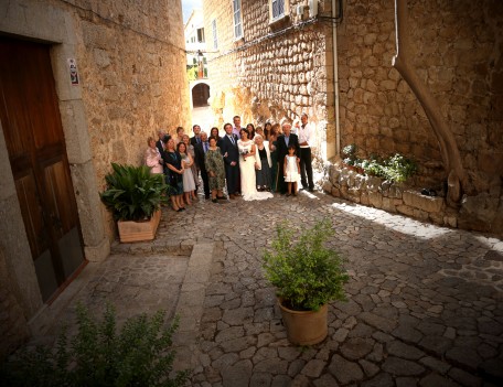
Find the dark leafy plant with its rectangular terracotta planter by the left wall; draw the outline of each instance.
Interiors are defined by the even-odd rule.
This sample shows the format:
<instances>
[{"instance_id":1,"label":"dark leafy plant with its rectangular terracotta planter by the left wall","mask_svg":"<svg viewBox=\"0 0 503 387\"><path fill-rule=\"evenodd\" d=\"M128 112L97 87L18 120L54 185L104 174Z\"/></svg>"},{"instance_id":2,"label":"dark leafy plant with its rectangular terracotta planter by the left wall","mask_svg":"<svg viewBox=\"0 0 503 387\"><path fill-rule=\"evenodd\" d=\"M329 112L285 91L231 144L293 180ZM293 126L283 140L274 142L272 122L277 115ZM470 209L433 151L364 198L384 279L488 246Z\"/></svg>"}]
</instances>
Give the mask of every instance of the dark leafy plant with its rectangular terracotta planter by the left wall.
<instances>
[{"instance_id":1,"label":"dark leafy plant with its rectangular terracotta planter by the left wall","mask_svg":"<svg viewBox=\"0 0 503 387\"><path fill-rule=\"evenodd\" d=\"M105 176L107 190L101 202L117 221L120 241L151 240L161 219L161 203L167 202L168 185L162 174L150 173L147 165L111 163Z\"/></svg>"}]
</instances>

